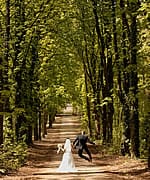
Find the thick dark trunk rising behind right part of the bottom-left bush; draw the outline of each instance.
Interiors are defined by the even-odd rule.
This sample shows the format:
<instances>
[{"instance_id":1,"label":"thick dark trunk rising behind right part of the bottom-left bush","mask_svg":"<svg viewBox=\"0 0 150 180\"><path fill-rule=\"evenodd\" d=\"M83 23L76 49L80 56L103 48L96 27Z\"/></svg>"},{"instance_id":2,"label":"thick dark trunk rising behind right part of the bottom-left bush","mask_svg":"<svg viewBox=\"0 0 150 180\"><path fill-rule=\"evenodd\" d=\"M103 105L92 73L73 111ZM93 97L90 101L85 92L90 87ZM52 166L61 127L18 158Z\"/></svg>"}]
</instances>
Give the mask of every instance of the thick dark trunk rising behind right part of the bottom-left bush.
<instances>
[{"instance_id":1,"label":"thick dark trunk rising behind right part of the bottom-left bush","mask_svg":"<svg viewBox=\"0 0 150 180\"><path fill-rule=\"evenodd\" d=\"M24 97L24 89L23 89L23 79L22 74L23 70L25 70L25 59L20 60L21 53L21 43L24 40L25 30L23 29L25 14L24 14L24 1L15 0L15 58L13 62L13 73L14 73L14 81L16 82L16 97L15 97L15 107L24 109L23 97ZM17 71L14 71L17 69ZM20 128L23 124L23 121L26 122L25 116L23 113L20 113L16 117L16 139L19 140L23 133L27 131L20 131ZM24 127L25 128L25 127ZM25 134L26 135L26 134ZM22 139L22 138L21 138Z\"/></svg>"}]
</instances>

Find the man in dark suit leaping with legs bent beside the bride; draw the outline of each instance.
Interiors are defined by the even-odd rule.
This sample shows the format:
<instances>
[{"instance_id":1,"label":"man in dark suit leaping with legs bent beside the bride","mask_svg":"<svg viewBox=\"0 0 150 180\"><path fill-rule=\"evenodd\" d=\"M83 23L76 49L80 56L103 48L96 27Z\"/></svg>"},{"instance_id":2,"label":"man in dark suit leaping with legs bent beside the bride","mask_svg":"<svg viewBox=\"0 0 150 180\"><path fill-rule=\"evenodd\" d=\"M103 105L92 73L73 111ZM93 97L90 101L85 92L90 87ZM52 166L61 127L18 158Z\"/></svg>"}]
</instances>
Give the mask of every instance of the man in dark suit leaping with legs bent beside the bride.
<instances>
[{"instance_id":1,"label":"man in dark suit leaping with legs bent beside the bride","mask_svg":"<svg viewBox=\"0 0 150 180\"><path fill-rule=\"evenodd\" d=\"M73 142L73 147L78 149L78 155L85 159L85 160L88 160L89 162L92 162L92 156L91 156L91 153L87 147L87 142L91 143L91 144L94 144L94 142L90 141L88 136L85 135L85 131L82 131L80 135L78 135L76 137L76 139L74 140ZM86 151L86 153L88 154L89 158L87 156L84 156L82 153L83 153L83 150Z\"/></svg>"}]
</instances>

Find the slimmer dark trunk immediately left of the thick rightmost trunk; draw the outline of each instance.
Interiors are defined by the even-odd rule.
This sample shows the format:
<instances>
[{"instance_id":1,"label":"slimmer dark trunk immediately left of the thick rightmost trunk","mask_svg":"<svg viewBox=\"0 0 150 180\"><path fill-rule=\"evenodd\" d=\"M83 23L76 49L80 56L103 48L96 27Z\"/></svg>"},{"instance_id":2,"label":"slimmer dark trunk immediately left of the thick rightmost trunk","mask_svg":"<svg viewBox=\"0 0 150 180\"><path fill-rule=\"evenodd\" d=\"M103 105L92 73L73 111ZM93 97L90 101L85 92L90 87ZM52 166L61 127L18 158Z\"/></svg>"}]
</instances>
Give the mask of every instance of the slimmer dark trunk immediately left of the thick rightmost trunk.
<instances>
[{"instance_id":1,"label":"slimmer dark trunk immediately left of the thick rightmost trunk","mask_svg":"<svg viewBox=\"0 0 150 180\"><path fill-rule=\"evenodd\" d=\"M123 72L122 72L122 79L120 69L118 69L118 84L119 84L119 98L121 104L123 106L123 137L122 137L122 149L121 151L124 152L123 155L128 154L130 155L130 110L129 110L129 72L126 70L129 67L129 55L127 53L128 45L127 45L127 37L129 34L128 22L126 18L126 11L125 11L125 4L124 0L120 0L120 8L122 9L122 56L123 56ZM120 66L117 66L120 68Z\"/></svg>"}]
</instances>

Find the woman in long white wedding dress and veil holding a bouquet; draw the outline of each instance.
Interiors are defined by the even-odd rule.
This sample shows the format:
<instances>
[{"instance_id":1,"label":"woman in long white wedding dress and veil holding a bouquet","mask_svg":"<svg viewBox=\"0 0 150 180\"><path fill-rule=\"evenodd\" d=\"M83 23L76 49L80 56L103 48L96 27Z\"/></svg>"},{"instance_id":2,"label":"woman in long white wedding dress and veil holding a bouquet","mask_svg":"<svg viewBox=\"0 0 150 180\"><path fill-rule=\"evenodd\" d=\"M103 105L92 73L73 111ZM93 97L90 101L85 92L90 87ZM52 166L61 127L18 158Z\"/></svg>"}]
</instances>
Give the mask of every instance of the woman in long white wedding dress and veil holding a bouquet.
<instances>
[{"instance_id":1,"label":"woman in long white wedding dress and veil holding a bouquet","mask_svg":"<svg viewBox=\"0 0 150 180\"><path fill-rule=\"evenodd\" d=\"M64 148L62 148L62 146L59 146L58 148L59 149L57 153L59 153L60 150L64 152L58 171L59 172L76 172L77 170L74 164L70 139L69 138L66 139Z\"/></svg>"}]
</instances>

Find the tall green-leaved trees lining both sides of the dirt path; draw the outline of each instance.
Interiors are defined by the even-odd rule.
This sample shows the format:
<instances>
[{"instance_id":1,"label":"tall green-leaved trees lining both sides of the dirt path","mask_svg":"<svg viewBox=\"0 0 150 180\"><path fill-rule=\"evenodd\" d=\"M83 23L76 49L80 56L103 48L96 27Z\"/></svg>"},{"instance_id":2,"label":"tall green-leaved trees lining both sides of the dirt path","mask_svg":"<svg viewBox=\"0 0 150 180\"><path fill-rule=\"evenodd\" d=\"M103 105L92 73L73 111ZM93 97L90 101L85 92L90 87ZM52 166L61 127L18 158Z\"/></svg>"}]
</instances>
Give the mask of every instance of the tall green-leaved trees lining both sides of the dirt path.
<instances>
[{"instance_id":1,"label":"tall green-leaved trees lining both sides of the dirt path","mask_svg":"<svg viewBox=\"0 0 150 180\"><path fill-rule=\"evenodd\" d=\"M150 167L150 3L0 0L0 168L72 104L90 137Z\"/></svg>"}]
</instances>

